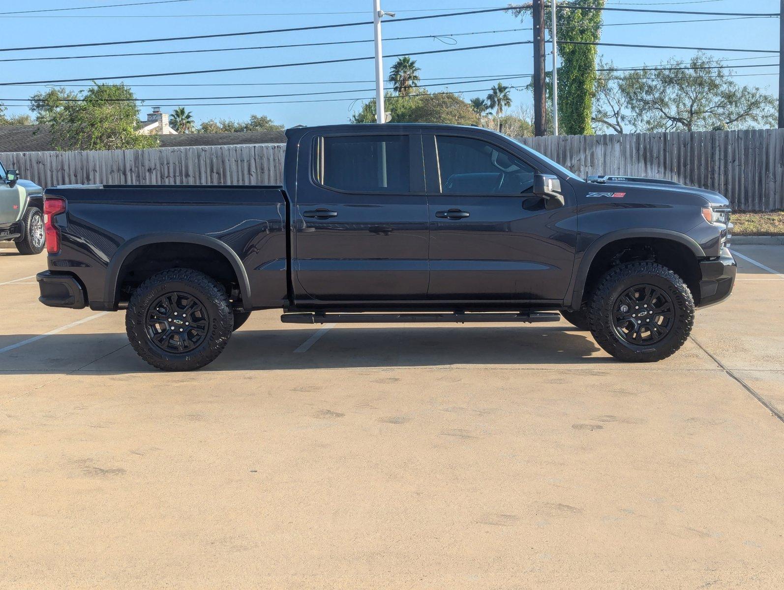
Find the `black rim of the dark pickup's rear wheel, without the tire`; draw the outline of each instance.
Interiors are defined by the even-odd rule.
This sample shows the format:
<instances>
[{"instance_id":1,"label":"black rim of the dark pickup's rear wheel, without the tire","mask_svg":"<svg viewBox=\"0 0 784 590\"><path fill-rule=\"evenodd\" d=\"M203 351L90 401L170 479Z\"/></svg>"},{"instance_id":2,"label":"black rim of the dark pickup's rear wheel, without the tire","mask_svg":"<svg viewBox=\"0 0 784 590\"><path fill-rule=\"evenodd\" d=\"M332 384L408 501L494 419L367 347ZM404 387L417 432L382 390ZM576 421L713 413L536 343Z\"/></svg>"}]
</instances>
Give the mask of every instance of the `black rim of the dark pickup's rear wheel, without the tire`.
<instances>
[{"instance_id":1,"label":"black rim of the dark pickup's rear wheel, without the tire","mask_svg":"<svg viewBox=\"0 0 784 590\"><path fill-rule=\"evenodd\" d=\"M147 309L147 338L170 354L189 353L207 337L209 315L198 298L175 291L162 295Z\"/></svg>"}]
</instances>

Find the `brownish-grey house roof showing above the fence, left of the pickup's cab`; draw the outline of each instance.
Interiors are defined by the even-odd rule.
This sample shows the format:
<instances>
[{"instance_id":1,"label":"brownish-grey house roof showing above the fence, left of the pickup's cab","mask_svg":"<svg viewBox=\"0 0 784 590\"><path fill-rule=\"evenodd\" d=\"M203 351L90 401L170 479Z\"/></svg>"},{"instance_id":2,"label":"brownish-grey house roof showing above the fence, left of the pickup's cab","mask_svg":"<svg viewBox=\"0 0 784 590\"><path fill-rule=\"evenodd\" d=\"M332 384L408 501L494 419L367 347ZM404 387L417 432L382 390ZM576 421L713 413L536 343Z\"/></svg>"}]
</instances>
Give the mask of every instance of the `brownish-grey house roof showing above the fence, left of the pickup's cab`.
<instances>
[{"instance_id":1,"label":"brownish-grey house roof showing above the fence, left of the pickup's cab","mask_svg":"<svg viewBox=\"0 0 784 590\"><path fill-rule=\"evenodd\" d=\"M161 147L236 146L286 143L283 131L246 133L184 133L158 136ZM52 134L42 125L0 125L0 152L53 151Z\"/></svg>"}]
</instances>

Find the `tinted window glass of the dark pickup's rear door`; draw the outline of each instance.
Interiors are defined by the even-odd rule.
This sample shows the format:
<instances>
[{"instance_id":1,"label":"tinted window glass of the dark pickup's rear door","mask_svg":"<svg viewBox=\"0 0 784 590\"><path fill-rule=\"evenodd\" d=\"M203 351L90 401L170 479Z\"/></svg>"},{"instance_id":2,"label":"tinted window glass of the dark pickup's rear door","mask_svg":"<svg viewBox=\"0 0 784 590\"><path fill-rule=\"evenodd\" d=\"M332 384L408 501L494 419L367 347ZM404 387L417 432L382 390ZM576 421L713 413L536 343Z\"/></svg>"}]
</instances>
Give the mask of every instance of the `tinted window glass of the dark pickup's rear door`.
<instances>
[{"instance_id":1,"label":"tinted window glass of the dark pickup's rear door","mask_svg":"<svg viewBox=\"0 0 784 590\"><path fill-rule=\"evenodd\" d=\"M323 136L316 139L317 183L350 193L408 193L408 136Z\"/></svg>"}]
</instances>

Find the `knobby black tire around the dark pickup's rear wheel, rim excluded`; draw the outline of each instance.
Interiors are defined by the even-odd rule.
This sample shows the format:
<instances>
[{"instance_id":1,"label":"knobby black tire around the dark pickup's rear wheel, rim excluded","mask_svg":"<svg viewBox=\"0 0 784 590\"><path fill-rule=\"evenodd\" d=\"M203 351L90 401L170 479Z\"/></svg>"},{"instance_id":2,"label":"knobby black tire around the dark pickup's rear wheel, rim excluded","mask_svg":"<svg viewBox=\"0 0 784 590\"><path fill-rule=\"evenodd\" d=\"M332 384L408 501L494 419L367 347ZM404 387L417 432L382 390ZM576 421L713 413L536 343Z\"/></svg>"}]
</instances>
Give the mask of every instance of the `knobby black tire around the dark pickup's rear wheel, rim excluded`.
<instances>
[{"instance_id":1,"label":"knobby black tire around the dark pickup's rear wheel, rim excluded","mask_svg":"<svg viewBox=\"0 0 784 590\"><path fill-rule=\"evenodd\" d=\"M147 332L150 308L159 298L177 292L201 302L209 318L206 334L194 349L169 353L159 348ZM192 371L215 360L229 342L234 313L223 287L196 270L176 268L155 274L133 293L125 313L125 331L136 353L163 371Z\"/></svg>"}]
</instances>

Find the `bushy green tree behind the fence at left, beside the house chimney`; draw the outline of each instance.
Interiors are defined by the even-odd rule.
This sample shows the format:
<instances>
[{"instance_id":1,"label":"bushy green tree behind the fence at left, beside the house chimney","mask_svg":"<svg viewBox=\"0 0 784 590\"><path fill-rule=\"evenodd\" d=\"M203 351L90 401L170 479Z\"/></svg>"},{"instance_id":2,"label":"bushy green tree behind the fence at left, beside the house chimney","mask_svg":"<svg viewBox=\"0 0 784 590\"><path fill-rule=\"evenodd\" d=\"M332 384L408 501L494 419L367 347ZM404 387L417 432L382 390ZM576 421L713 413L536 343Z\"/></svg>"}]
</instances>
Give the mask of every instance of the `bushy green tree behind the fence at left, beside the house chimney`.
<instances>
[{"instance_id":1,"label":"bushy green tree behind the fence at left, beside the house chimney","mask_svg":"<svg viewBox=\"0 0 784 590\"><path fill-rule=\"evenodd\" d=\"M123 84L96 84L86 91L50 89L30 99L36 122L47 125L57 150L128 150L158 146L139 133L136 96Z\"/></svg>"}]
</instances>

